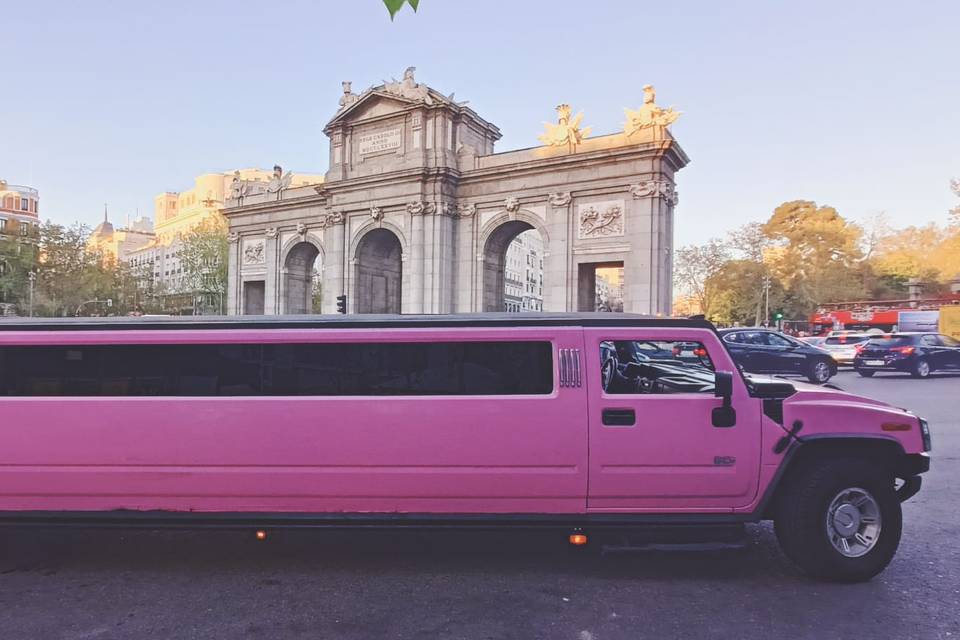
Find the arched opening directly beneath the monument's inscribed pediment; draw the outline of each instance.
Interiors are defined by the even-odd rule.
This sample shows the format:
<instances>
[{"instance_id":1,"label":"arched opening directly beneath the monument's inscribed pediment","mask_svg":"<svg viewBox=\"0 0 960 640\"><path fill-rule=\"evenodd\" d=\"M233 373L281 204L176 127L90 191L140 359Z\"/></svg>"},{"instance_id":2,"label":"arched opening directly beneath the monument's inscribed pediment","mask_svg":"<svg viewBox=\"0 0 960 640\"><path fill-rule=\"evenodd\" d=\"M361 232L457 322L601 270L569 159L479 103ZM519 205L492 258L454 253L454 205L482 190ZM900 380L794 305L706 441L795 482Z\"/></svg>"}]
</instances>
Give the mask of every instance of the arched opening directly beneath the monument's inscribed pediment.
<instances>
[{"instance_id":1,"label":"arched opening directly beneath the monument's inscribed pediment","mask_svg":"<svg viewBox=\"0 0 960 640\"><path fill-rule=\"evenodd\" d=\"M387 229L372 229L360 239L354 293L357 313L400 313L402 253L400 239Z\"/></svg>"}]
</instances>

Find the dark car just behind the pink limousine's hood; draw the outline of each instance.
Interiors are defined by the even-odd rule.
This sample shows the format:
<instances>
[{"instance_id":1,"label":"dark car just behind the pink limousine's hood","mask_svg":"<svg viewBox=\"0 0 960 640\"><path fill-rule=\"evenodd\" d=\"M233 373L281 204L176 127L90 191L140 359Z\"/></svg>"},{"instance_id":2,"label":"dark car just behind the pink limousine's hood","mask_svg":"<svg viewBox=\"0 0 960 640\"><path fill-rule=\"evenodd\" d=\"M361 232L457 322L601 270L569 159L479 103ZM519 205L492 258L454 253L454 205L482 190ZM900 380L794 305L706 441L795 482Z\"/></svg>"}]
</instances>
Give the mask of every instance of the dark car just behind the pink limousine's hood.
<instances>
[{"instance_id":1,"label":"dark car just behind the pink limousine's hood","mask_svg":"<svg viewBox=\"0 0 960 640\"><path fill-rule=\"evenodd\" d=\"M730 355L744 371L806 376L823 384L837 375L829 353L772 329L722 329Z\"/></svg>"}]
</instances>

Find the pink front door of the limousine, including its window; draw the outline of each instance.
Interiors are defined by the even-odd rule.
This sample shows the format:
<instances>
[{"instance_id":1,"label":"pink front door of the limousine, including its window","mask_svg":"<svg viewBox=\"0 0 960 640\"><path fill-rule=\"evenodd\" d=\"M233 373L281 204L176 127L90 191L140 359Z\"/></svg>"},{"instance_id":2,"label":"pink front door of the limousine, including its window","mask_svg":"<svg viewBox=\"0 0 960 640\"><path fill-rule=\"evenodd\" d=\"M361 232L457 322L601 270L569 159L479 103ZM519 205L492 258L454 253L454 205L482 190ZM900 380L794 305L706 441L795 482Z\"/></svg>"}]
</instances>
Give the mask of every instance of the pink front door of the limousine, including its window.
<instances>
[{"instance_id":1,"label":"pink front door of the limousine, including its window","mask_svg":"<svg viewBox=\"0 0 960 640\"><path fill-rule=\"evenodd\" d=\"M736 371L719 340L692 329L585 333L588 511L722 512L749 504L758 484L760 404L735 375L736 424L713 425L722 399L714 396L711 367ZM628 348L631 342L650 348Z\"/></svg>"}]
</instances>

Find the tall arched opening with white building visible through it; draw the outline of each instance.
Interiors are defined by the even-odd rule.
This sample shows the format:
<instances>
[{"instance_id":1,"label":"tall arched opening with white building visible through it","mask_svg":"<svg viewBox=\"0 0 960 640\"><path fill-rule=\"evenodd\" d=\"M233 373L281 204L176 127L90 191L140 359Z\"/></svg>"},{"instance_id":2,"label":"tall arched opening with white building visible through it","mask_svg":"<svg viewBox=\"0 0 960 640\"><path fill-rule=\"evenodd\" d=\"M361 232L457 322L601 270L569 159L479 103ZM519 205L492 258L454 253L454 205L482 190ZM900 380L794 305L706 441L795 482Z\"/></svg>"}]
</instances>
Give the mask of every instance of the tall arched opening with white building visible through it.
<instances>
[{"instance_id":1,"label":"tall arched opening with white building visible through it","mask_svg":"<svg viewBox=\"0 0 960 640\"><path fill-rule=\"evenodd\" d=\"M543 310L543 238L529 222L504 222L484 243L482 308Z\"/></svg>"}]
</instances>

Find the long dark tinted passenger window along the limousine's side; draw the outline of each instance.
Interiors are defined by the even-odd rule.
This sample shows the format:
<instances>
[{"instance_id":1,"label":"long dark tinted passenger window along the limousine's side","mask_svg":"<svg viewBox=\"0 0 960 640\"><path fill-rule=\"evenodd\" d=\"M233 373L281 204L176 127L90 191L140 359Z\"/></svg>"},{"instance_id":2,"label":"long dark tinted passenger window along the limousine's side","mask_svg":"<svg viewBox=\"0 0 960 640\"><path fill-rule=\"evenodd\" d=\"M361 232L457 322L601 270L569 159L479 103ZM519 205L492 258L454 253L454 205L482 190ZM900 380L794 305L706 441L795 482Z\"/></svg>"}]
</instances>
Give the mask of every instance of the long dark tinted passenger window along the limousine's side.
<instances>
[{"instance_id":1,"label":"long dark tinted passenger window along the limousine's side","mask_svg":"<svg viewBox=\"0 0 960 640\"><path fill-rule=\"evenodd\" d=\"M549 342L0 348L6 396L517 395L553 390Z\"/></svg>"}]
</instances>

